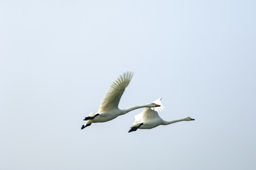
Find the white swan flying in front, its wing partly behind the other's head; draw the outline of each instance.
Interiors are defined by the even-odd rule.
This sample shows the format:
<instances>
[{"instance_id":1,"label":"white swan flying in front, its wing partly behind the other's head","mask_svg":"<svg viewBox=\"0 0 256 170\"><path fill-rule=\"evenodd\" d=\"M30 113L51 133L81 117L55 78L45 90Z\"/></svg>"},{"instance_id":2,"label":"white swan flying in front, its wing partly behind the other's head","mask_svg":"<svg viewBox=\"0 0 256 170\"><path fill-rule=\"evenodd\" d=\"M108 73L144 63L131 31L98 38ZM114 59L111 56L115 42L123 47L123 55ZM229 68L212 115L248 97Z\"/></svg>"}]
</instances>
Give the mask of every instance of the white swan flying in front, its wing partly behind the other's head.
<instances>
[{"instance_id":1,"label":"white swan flying in front, its wing partly behind the other's head","mask_svg":"<svg viewBox=\"0 0 256 170\"><path fill-rule=\"evenodd\" d=\"M157 100L157 104L161 105L160 102L161 98ZM160 111L164 108L163 105L161 105ZM161 119L159 117L158 112L159 110L151 109L151 108L144 108L143 112L136 115L134 118L134 124L132 124L132 127L130 127L129 132L137 131L137 129L152 129L154 127L157 127L159 125L168 125L176 122L181 121L191 121L195 120L191 117L185 117L183 119L175 119L172 121L165 121L164 119Z\"/></svg>"}]
</instances>

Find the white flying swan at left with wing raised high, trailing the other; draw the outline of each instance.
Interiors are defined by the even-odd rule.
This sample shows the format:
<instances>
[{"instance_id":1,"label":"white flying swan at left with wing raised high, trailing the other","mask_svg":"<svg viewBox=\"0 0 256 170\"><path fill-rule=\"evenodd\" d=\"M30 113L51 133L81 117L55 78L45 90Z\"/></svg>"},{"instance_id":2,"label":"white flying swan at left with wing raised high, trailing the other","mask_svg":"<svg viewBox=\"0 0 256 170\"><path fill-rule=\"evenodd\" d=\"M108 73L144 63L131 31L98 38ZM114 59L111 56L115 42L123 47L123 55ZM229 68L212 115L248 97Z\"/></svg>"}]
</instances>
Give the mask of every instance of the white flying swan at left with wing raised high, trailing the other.
<instances>
[{"instance_id":1,"label":"white flying swan at left with wing raised high, trailing the other","mask_svg":"<svg viewBox=\"0 0 256 170\"><path fill-rule=\"evenodd\" d=\"M119 115L124 115L127 112L131 112L132 110L137 110L142 107L160 107L160 105L151 102L148 105L139 105L130 107L128 109L121 110L118 108L118 104L122 97L122 94L132 80L132 76L132 72L127 72L123 75L120 75L117 80L114 80L112 85L110 85L109 89L107 90L105 97L103 97L98 112L91 112L88 117L85 117L85 119L83 120L87 122L82 125L81 129L90 126L92 123L110 121L118 117Z\"/></svg>"}]
</instances>

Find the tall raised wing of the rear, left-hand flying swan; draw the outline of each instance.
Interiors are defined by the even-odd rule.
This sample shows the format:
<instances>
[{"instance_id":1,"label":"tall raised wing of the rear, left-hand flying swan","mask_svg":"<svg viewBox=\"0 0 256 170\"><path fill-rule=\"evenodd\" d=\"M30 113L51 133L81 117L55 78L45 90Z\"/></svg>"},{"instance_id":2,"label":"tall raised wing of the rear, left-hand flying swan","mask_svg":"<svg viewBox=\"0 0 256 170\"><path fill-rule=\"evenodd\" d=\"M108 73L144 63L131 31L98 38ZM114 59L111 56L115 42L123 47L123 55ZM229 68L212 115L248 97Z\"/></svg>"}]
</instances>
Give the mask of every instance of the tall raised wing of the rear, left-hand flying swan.
<instances>
[{"instance_id":1,"label":"tall raised wing of the rear, left-hand flying swan","mask_svg":"<svg viewBox=\"0 0 256 170\"><path fill-rule=\"evenodd\" d=\"M118 108L122 94L132 80L132 76L132 72L124 73L123 75L120 75L112 85L110 85L110 88L107 90L106 95L100 104L99 112Z\"/></svg>"}]
</instances>

